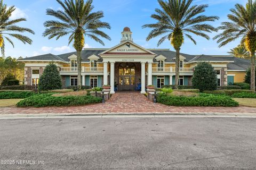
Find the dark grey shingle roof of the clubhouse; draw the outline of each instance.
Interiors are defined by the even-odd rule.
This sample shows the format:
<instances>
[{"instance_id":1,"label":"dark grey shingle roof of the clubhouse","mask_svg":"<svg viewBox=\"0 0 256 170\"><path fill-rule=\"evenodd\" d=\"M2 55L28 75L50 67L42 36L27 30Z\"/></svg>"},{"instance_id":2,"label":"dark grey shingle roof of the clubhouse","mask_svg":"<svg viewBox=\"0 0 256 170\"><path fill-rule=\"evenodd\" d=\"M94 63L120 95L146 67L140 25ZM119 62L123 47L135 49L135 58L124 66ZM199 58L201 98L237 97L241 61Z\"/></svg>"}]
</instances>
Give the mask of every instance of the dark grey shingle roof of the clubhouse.
<instances>
[{"instance_id":1,"label":"dark grey shingle roof of the clubhouse","mask_svg":"<svg viewBox=\"0 0 256 170\"><path fill-rule=\"evenodd\" d=\"M82 55L82 62L89 62L88 57L91 55L96 55L100 57L99 62L102 62L102 58L99 55L100 53L104 52L106 49L85 49L82 50L81 55ZM166 57L166 62L175 62L173 58L175 57L175 52L171 50L151 50L151 52L159 55L163 55ZM75 54L76 52L72 53L66 53L66 54L61 54L61 55L53 55L53 54L44 54L44 55L39 55L39 56L34 56L34 57L28 57L28 58L23 58L22 61L26 60L47 60L47 61L63 61L63 62L69 62L69 56ZM184 54L181 53L180 55L186 57L185 62L200 62L200 61L234 61L234 63L228 63L227 67L228 70L246 70L247 68L250 67L250 61L245 60L243 58L236 58L236 57L231 57L231 56L210 56L210 55L189 55L189 54ZM157 57L156 56L156 57ZM156 60L154 60L156 62Z\"/></svg>"}]
</instances>

